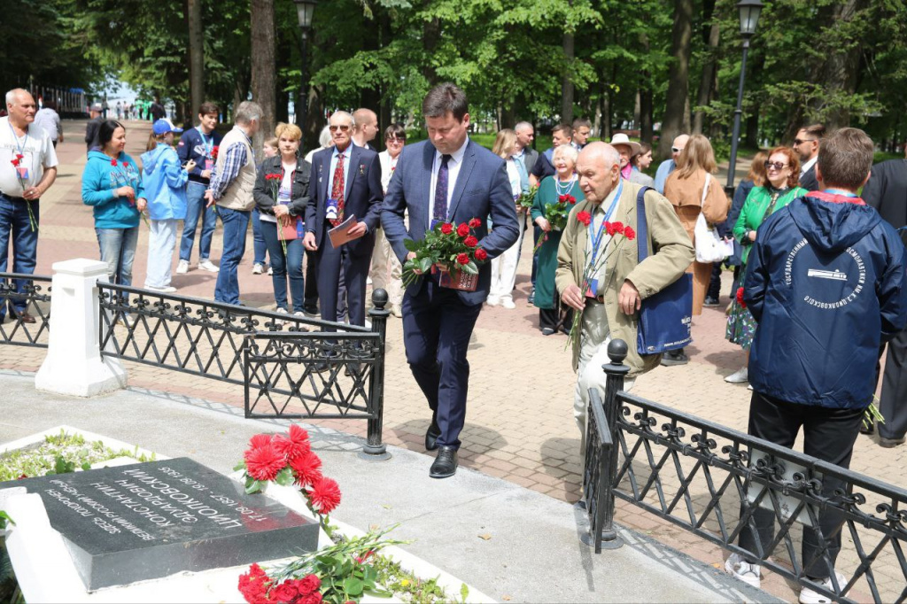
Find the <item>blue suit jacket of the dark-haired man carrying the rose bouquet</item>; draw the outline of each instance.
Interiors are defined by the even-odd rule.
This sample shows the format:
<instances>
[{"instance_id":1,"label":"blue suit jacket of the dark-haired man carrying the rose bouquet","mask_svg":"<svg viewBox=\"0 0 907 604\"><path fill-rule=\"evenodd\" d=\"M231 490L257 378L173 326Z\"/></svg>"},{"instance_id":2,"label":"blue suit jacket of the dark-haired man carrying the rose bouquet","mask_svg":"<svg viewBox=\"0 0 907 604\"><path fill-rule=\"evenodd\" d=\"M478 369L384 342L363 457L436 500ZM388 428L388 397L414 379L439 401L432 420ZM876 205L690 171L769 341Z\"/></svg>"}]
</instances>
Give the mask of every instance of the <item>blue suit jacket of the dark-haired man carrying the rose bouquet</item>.
<instances>
[{"instance_id":1,"label":"blue suit jacket of the dark-haired man carrying the rose bouquet","mask_svg":"<svg viewBox=\"0 0 907 604\"><path fill-rule=\"evenodd\" d=\"M401 263L406 261L409 253L405 239L424 239L431 223L428 202L434 153L434 145L429 141L406 145L397 160L394 177L387 186L381 225ZM405 210L409 210L409 230L404 225ZM453 187L448 216L457 224L473 218L482 221L482 226L475 229L475 235L479 239L479 247L488 252L489 259L500 256L520 237L513 193L504 161L473 141L466 145L463 166ZM489 216L494 223L491 233L487 227ZM457 293L464 304L481 304L488 297L491 282L492 266L491 262L486 262L479 268L479 285L476 290ZM420 287L422 279L409 287L410 295L417 293Z\"/></svg>"}]
</instances>

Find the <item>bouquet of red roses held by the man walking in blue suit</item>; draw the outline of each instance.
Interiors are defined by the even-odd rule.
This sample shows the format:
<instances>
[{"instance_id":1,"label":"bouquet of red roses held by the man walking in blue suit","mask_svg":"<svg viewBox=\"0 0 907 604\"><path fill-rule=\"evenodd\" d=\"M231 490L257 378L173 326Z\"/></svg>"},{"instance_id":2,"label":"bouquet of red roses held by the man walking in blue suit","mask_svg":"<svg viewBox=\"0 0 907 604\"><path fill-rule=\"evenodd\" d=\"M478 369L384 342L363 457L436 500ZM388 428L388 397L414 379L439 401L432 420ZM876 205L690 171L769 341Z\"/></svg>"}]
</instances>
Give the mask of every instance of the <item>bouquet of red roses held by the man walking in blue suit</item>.
<instances>
[{"instance_id":1,"label":"bouquet of red roses held by the man walking in blue suit","mask_svg":"<svg viewBox=\"0 0 907 604\"><path fill-rule=\"evenodd\" d=\"M434 229L425 233L425 239L421 241L406 239L406 249L415 252L415 258L406 260L403 265L404 287L409 287L419 278L415 271L427 273L436 266L441 267L446 273L472 277L478 275L479 264L488 259L488 252L478 247L479 239L475 238L473 232L473 229L481 225L482 220L476 218L468 223L463 222L460 226L454 225L453 222L444 222L434 225ZM444 283L442 285L444 286Z\"/></svg>"}]
</instances>

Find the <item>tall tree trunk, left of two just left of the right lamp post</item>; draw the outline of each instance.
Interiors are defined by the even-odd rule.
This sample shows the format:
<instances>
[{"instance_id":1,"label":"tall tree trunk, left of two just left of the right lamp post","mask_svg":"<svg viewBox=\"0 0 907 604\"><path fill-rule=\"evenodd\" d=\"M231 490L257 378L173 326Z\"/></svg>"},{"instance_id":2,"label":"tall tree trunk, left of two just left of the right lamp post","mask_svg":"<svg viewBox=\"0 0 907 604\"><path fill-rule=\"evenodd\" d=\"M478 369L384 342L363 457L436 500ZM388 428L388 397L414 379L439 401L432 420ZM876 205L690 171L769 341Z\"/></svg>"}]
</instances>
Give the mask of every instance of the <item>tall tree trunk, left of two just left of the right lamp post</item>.
<instances>
[{"instance_id":1,"label":"tall tree trunk, left of two just left of the right lamp post","mask_svg":"<svg viewBox=\"0 0 907 604\"><path fill-rule=\"evenodd\" d=\"M658 160L671 154L674 138L683 132L689 93L690 39L693 34L693 0L674 0L674 29L671 32L671 63L668 71L668 101L658 140Z\"/></svg>"}]
</instances>

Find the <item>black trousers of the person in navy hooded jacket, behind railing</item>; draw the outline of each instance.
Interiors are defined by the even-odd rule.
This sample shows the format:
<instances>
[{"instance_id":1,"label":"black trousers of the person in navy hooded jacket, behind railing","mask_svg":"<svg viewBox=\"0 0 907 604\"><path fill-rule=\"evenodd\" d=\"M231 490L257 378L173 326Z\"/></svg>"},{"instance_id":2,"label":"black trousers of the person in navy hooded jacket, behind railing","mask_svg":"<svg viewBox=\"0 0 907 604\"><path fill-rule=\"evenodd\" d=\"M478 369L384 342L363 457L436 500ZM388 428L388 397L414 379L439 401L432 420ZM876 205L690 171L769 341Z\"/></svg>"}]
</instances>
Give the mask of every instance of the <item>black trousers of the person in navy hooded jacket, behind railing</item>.
<instances>
[{"instance_id":1,"label":"black trousers of the person in navy hooded jacket, behind railing","mask_svg":"<svg viewBox=\"0 0 907 604\"><path fill-rule=\"evenodd\" d=\"M828 409L808 404L786 403L772 396L753 393L749 405L749 434L762 438L770 443L780 444L787 448L794 447L796 435L800 428L804 430L804 453L824 462L834 463L842 468L849 468L853 455L853 443L859 434L863 409ZM834 494L835 489L844 487L844 483L830 476L822 479L822 493L826 497ZM768 495L766 495L766 498ZM767 501L764 499L763 501ZM743 506L740 509L744 513ZM757 553L761 544L764 556L771 554L766 548L775 538L775 512L761 507L753 512L756 534L748 527L740 533L740 547ZM819 525L828 544L827 555L819 555L823 549L822 540L813 527L803 528L803 568L810 579L824 580L831 577L834 560L841 551L841 527L843 515L834 510L823 510L819 513ZM757 563L757 556L748 558Z\"/></svg>"}]
</instances>

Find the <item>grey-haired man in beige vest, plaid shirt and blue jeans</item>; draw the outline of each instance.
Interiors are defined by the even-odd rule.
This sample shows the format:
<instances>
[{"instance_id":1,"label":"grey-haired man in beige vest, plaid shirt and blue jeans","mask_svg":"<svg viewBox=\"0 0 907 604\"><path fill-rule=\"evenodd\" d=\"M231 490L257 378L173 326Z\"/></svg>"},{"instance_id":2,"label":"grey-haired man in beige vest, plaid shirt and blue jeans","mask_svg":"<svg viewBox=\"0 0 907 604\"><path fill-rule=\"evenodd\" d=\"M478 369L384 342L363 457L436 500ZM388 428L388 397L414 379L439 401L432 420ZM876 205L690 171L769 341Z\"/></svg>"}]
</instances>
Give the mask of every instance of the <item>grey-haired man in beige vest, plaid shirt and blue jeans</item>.
<instances>
[{"instance_id":1,"label":"grey-haired man in beige vest, plaid shirt and blue jeans","mask_svg":"<svg viewBox=\"0 0 907 604\"><path fill-rule=\"evenodd\" d=\"M205 193L209 208L217 204L216 211L224 226L224 250L220 256L214 299L227 304L239 304L239 261L246 253L249 212L255 206L252 137L258 132L261 113L257 102L239 103L233 130L220 141L218 159Z\"/></svg>"}]
</instances>

